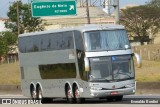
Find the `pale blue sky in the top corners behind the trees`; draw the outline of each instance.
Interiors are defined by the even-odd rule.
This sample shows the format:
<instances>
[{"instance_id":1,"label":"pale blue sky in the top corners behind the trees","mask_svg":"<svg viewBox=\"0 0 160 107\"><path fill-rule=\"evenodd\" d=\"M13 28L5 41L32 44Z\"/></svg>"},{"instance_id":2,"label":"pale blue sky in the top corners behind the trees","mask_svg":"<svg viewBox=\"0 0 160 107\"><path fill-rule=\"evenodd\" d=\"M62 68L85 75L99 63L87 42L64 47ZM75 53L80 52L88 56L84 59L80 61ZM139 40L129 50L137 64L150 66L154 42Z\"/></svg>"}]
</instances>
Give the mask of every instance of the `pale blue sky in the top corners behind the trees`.
<instances>
[{"instance_id":1,"label":"pale blue sky in the top corners behind the trees","mask_svg":"<svg viewBox=\"0 0 160 107\"><path fill-rule=\"evenodd\" d=\"M0 17L6 18L7 11L9 6L17 0L0 0ZM28 3L30 0L21 0L23 3ZM84 1L84 0L83 0ZM93 0L96 1L96 0ZM120 7L124 7L125 5L135 4L135 5L143 5L150 0L119 0Z\"/></svg>"}]
</instances>

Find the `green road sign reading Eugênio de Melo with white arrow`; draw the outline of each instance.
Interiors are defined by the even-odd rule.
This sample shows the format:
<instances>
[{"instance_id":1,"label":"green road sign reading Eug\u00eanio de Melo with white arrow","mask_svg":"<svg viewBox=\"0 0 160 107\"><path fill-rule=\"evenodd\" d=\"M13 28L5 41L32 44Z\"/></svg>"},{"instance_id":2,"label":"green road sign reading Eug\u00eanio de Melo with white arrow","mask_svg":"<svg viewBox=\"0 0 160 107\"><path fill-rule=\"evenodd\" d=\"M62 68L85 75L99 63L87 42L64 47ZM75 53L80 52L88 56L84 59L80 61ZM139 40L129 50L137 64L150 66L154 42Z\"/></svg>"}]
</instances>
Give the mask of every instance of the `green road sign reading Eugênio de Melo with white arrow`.
<instances>
[{"instance_id":1,"label":"green road sign reading Eug\u00eanio de Melo with white arrow","mask_svg":"<svg viewBox=\"0 0 160 107\"><path fill-rule=\"evenodd\" d=\"M36 0L35 0L36 1ZM75 0L32 1L32 17L76 15Z\"/></svg>"}]
</instances>

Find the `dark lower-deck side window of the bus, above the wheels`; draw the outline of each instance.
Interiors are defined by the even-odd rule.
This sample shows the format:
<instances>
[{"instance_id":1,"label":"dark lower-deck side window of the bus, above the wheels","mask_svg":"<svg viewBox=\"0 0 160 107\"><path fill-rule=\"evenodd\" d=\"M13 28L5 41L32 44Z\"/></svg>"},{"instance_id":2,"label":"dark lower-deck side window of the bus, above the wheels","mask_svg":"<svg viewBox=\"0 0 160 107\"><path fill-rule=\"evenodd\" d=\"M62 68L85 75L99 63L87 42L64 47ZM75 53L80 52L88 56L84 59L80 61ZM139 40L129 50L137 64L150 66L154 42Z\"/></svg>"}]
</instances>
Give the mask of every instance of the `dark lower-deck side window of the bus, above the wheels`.
<instances>
[{"instance_id":1,"label":"dark lower-deck side window of the bus, above the wheels","mask_svg":"<svg viewBox=\"0 0 160 107\"><path fill-rule=\"evenodd\" d=\"M39 71L42 79L76 78L74 63L40 65Z\"/></svg>"}]
</instances>

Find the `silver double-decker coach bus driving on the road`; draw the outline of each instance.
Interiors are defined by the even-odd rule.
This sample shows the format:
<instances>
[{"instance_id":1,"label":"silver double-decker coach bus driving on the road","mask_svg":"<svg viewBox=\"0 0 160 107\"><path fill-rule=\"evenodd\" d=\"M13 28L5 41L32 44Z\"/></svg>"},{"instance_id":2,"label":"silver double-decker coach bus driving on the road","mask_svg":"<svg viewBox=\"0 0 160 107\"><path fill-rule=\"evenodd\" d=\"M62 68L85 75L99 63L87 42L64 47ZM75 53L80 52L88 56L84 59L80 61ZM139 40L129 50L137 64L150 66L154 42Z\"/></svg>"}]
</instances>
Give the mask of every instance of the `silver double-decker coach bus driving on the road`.
<instances>
[{"instance_id":1,"label":"silver double-decker coach bus driving on the road","mask_svg":"<svg viewBox=\"0 0 160 107\"><path fill-rule=\"evenodd\" d=\"M81 103L85 98L122 100L136 91L134 53L121 25L21 34L18 47L26 97Z\"/></svg>"}]
</instances>

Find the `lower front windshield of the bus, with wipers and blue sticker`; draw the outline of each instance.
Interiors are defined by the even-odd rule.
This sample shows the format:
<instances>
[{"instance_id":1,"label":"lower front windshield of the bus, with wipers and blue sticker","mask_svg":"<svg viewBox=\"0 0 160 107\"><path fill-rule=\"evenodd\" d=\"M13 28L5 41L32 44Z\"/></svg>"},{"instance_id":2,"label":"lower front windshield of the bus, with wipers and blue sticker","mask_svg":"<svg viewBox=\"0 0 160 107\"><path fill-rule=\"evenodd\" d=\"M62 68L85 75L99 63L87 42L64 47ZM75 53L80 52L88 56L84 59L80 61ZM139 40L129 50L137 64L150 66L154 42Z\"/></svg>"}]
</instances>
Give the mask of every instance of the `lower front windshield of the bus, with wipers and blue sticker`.
<instances>
[{"instance_id":1,"label":"lower front windshield of the bus, with wipers and blue sticker","mask_svg":"<svg viewBox=\"0 0 160 107\"><path fill-rule=\"evenodd\" d=\"M90 58L90 81L123 81L134 79L131 55Z\"/></svg>"}]
</instances>

